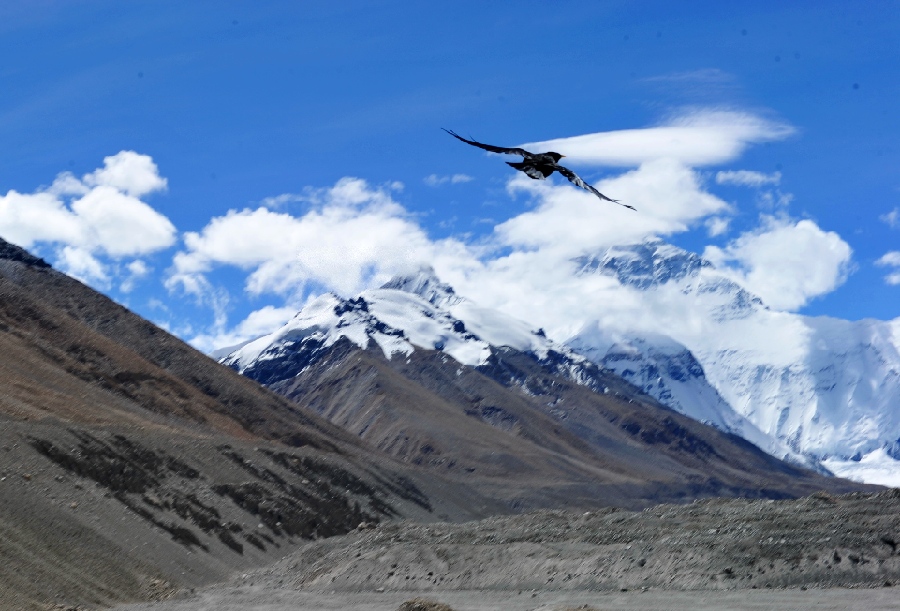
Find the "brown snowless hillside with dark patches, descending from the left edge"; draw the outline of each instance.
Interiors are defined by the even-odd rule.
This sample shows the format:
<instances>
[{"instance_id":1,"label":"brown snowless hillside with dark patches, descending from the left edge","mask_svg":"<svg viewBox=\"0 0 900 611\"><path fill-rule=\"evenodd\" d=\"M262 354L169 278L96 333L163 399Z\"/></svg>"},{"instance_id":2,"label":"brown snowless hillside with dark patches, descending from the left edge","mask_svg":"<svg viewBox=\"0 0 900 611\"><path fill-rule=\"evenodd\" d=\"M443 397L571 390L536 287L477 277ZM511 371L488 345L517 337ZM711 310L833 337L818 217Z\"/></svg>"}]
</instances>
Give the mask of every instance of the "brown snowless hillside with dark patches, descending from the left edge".
<instances>
[{"instance_id":1,"label":"brown snowless hillside with dark patches, descending from the left edge","mask_svg":"<svg viewBox=\"0 0 900 611\"><path fill-rule=\"evenodd\" d=\"M0 240L0 608L161 598L304 540L505 509Z\"/></svg>"}]
</instances>

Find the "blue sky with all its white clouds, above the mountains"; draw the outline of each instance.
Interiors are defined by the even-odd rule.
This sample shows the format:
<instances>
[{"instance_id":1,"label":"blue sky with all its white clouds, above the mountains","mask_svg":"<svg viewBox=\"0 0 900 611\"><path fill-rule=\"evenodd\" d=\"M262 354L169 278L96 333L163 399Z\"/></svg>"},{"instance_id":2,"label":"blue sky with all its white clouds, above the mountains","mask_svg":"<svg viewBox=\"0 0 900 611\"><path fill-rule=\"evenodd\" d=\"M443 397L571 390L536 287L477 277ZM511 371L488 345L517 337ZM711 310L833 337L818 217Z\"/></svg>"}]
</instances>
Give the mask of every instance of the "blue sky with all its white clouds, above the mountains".
<instances>
[{"instance_id":1,"label":"blue sky with all its white clouds, above the mountains","mask_svg":"<svg viewBox=\"0 0 900 611\"><path fill-rule=\"evenodd\" d=\"M33 0L0 58L0 237L202 350L423 265L564 340L572 260L650 238L900 317L897 2Z\"/></svg>"}]
</instances>

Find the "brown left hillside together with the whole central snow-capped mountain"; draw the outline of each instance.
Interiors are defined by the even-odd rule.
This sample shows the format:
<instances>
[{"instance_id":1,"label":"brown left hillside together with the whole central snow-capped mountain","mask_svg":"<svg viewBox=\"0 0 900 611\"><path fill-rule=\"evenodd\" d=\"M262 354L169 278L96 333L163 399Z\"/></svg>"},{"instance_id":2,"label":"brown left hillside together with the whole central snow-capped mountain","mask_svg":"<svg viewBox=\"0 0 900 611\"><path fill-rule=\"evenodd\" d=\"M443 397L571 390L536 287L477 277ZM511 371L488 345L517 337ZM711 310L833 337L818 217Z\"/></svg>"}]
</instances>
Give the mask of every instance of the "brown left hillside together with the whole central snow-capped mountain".
<instances>
[{"instance_id":1,"label":"brown left hillside together with the whole central snow-capped mountain","mask_svg":"<svg viewBox=\"0 0 900 611\"><path fill-rule=\"evenodd\" d=\"M0 240L0 607L165 598L400 518L870 489L427 272L225 362Z\"/></svg>"}]
</instances>

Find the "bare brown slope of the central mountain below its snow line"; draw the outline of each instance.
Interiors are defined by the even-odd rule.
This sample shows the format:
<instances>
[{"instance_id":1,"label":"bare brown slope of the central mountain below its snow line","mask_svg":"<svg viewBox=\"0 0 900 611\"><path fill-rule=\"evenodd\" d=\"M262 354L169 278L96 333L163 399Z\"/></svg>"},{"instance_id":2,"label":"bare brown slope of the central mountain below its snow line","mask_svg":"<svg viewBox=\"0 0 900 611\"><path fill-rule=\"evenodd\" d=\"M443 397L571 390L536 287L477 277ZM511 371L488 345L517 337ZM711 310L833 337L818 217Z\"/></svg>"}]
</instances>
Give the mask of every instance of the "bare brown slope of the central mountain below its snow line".
<instances>
[{"instance_id":1,"label":"bare brown slope of the central mountain below its snow line","mask_svg":"<svg viewBox=\"0 0 900 611\"><path fill-rule=\"evenodd\" d=\"M342 340L271 388L517 509L862 488L777 460L621 380L594 392L514 350L472 368L439 351L388 360Z\"/></svg>"}]
</instances>

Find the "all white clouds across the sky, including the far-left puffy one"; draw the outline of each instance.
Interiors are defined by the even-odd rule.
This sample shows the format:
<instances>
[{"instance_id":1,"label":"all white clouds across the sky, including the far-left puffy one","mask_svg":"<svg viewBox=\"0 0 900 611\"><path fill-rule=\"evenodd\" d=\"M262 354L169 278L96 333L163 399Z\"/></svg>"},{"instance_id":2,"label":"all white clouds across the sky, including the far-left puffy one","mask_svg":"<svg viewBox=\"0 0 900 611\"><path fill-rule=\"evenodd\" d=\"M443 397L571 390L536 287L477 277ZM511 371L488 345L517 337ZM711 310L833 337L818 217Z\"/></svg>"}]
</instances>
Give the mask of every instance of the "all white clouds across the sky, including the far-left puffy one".
<instances>
[{"instance_id":1,"label":"all white clouds across the sky, including the far-left puffy one","mask_svg":"<svg viewBox=\"0 0 900 611\"><path fill-rule=\"evenodd\" d=\"M777 215L763 215L755 227L729 239L735 204L712 193L707 181L763 187L779 184L781 176L702 169L793 131L748 113L703 110L643 130L529 145L565 151L582 165L619 168L605 178L581 173L637 212L599 201L562 179L535 181L517 173L507 195L522 211L478 238L435 239L421 217L394 199L401 184L373 186L347 177L331 187L229 210L199 231L185 232L163 280L173 296L211 310L211 323L177 325L207 351L272 330L310 295L351 296L425 265L461 294L543 327L556 339L578 333L586 311L610 329L665 332L658 328L665 320L683 325L683 335L689 335L699 322L678 295L648 298L615 278L579 276L574 259L698 231L717 238L719 245L704 255L730 278L771 308L796 310L846 279L850 247L811 220L791 218L785 194L778 195ZM466 180L461 174L425 179L433 186ZM49 247L63 271L98 288L118 283L128 293L153 275L145 259L176 244L173 224L144 201L166 187L150 157L122 151L81 177L62 173L33 193L0 196L0 235L26 248ZM879 264L900 268L896 257L889 253ZM233 284L236 275L240 288ZM900 274L887 281L900 283ZM258 305L243 320L230 321L239 301Z\"/></svg>"}]
</instances>

